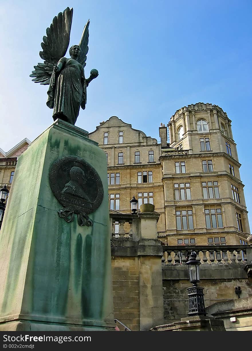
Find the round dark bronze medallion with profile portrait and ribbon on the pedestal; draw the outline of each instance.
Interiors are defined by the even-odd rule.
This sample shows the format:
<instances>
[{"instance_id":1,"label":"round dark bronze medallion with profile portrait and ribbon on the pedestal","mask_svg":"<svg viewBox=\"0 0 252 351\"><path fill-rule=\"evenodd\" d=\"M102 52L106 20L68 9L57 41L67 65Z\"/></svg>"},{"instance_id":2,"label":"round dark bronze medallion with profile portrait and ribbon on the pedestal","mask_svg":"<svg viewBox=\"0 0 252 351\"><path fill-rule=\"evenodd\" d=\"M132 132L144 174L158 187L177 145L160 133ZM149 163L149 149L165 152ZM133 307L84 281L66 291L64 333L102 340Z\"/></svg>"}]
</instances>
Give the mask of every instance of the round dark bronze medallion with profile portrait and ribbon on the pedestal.
<instances>
[{"instance_id":1,"label":"round dark bronze medallion with profile portrait and ribbon on the pedestal","mask_svg":"<svg viewBox=\"0 0 252 351\"><path fill-rule=\"evenodd\" d=\"M55 161L49 181L57 200L65 207L58 211L67 222L78 215L79 225L92 225L88 213L96 210L103 199L103 186L97 171L84 159L64 156Z\"/></svg>"}]
</instances>

